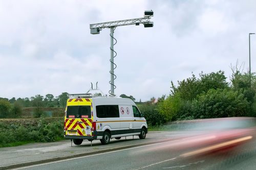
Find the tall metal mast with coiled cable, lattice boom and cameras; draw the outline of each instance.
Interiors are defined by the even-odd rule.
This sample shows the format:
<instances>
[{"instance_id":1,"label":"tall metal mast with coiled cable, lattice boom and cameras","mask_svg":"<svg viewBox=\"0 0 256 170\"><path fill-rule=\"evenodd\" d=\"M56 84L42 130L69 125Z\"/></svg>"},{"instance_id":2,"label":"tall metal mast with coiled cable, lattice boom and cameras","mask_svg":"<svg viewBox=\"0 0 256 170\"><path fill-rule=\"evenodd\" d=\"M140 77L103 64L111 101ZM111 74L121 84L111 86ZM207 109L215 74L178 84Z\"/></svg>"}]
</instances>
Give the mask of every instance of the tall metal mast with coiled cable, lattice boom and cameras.
<instances>
[{"instance_id":1,"label":"tall metal mast with coiled cable, lattice boom and cameras","mask_svg":"<svg viewBox=\"0 0 256 170\"><path fill-rule=\"evenodd\" d=\"M154 12L145 11L143 18L135 18L135 19L126 19L126 20L118 20L118 21L110 21L110 22L101 22L101 23L94 23L90 25L91 34L99 34L99 32L104 28L110 28L110 91L111 95L115 95L114 89L116 88L114 84L114 80L116 79L116 75L114 74L114 69L116 68L116 64L114 63L114 58L116 57L117 53L114 51L114 45L116 44L116 39L114 38L114 30L116 27L119 26L129 26L129 25L136 25L139 26L140 23L144 25L145 28L153 27L154 23L150 21L151 17L153 16ZM115 39L115 43L114 43ZM115 56L114 56L115 53Z\"/></svg>"}]
</instances>

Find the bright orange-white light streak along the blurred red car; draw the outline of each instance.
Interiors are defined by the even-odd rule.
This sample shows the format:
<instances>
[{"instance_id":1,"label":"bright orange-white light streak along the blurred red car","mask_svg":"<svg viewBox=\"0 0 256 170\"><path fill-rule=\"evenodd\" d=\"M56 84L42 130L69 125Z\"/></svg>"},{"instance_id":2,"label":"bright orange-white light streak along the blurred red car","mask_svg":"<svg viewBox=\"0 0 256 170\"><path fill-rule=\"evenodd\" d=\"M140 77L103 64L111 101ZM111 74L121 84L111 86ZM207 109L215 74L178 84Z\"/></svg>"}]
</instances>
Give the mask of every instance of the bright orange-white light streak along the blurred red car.
<instances>
[{"instance_id":1,"label":"bright orange-white light streak along the blurred red car","mask_svg":"<svg viewBox=\"0 0 256 170\"><path fill-rule=\"evenodd\" d=\"M223 148L223 147L228 147L229 145L237 144L239 142L243 142L243 141L246 141L246 140L249 140L249 139L252 139L252 136L246 136L246 137L241 137L239 139L230 140L230 141L223 142L223 143L220 143L220 144L212 145L212 146L207 147L207 148L199 149L199 150L196 150L196 151L193 151L193 152L188 152L188 153L182 154L180 156L188 157L188 156L198 155L198 154L202 154L202 153L205 153L205 152L220 149L220 148Z\"/></svg>"}]
</instances>

